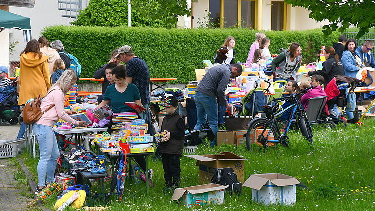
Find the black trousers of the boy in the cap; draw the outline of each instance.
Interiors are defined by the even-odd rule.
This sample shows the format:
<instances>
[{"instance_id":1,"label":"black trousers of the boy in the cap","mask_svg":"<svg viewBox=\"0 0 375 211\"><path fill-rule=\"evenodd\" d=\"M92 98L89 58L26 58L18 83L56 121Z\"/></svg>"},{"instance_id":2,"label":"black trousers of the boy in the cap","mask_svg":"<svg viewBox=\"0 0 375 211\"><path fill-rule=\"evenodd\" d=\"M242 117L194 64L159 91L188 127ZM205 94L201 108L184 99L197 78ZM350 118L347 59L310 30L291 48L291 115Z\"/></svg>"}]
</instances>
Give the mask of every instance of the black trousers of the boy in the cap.
<instances>
[{"instance_id":1,"label":"black trousers of the boy in the cap","mask_svg":"<svg viewBox=\"0 0 375 211\"><path fill-rule=\"evenodd\" d=\"M180 184L180 156L172 154L161 154L164 169L164 180L166 187L178 187Z\"/></svg>"}]
</instances>

